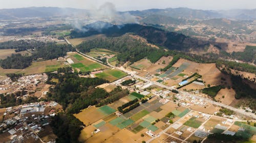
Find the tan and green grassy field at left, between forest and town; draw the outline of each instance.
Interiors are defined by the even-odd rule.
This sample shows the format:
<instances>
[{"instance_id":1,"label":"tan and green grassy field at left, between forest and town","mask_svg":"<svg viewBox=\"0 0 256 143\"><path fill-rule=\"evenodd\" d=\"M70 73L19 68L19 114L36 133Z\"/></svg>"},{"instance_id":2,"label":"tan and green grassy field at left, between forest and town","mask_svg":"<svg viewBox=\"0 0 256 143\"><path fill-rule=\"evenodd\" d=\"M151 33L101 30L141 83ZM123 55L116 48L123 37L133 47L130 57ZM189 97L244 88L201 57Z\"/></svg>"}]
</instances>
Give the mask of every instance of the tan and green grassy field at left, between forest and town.
<instances>
[{"instance_id":1,"label":"tan and green grassy field at left, between forest and town","mask_svg":"<svg viewBox=\"0 0 256 143\"><path fill-rule=\"evenodd\" d=\"M25 69L3 69L0 68L0 75L6 75L7 73L24 73L25 75L52 72L56 71L58 68L65 67L61 61L57 60L47 60L41 62L33 62L31 66Z\"/></svg>"}]
</instances>

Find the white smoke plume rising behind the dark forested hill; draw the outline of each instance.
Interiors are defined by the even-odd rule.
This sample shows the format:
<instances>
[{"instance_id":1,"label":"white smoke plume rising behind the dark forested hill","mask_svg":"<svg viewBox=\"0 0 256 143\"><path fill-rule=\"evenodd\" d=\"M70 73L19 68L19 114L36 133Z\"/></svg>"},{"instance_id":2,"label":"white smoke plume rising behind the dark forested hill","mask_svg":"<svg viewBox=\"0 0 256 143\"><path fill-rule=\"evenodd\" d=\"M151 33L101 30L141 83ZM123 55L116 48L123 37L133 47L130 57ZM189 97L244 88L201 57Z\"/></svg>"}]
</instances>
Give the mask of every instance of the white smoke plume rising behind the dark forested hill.
<instances>
[{"instance_id":1,"label":"white smoke plume rising behind the dark forested hill","mask_svg":"<svg viewBox=\"0 0 256 143\"><path fill-rule=\"evenodd\" d=\"M128 12L118 12L116 7L112 3L104 3L98 9L92 9L89 11L90 21L81 22L79 20L75 20L73 26L82 32L87 32L88 29L84 28L84 23L93 23L90 24L90 27L101 30L102 28L110 27L110 24L104 23L112 23L112 24L127 24L127 23L138 23L136 17L131 15ZM96 22L103 21L103 22Z\"/></svg>"}]
</instances>

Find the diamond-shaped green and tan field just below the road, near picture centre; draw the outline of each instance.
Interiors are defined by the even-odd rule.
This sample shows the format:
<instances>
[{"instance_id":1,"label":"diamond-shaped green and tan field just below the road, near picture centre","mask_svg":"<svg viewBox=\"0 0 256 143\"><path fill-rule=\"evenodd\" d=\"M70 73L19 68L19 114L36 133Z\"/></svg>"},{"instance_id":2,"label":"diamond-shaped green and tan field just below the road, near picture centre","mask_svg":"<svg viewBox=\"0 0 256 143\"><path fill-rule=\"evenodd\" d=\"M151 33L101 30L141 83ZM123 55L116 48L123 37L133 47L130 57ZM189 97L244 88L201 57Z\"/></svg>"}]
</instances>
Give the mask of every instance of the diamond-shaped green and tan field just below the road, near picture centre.
<instances>
[{"instance_id":1,"label":"diamond-shaped green and tan field just below the road, near picture centre","mask_svg":"<svg viewBox=\"0 0 256 143\"><path fill-rule=\"evenodd\" d=\"M103 71L102 73L95 74L95 76L109 80L110 82L120 79L126 75L127 75L126 73L117 69L109 69L109 70Z\"/></svg>"}]
</instances>

